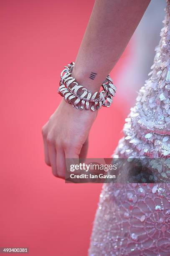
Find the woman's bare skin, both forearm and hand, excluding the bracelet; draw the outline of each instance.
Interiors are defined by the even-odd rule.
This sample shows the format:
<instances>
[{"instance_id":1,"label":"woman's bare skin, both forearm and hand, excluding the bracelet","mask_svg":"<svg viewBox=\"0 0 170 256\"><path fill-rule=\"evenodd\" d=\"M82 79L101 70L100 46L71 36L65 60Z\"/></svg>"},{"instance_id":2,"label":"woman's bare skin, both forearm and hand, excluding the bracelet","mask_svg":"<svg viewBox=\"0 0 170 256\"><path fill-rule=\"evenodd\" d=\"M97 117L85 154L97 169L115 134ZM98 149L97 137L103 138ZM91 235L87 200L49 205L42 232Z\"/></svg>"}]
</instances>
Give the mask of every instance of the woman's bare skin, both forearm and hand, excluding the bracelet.
<instances>
[{"instance_id":1,"label":"woman's bare skin, both forearm and hand, excluding the bracelet","mask_svg":"<svg viewBox=\"0 0 170 256\"><path fill-rule=\"evenodd\" d=\"M92 92L119 60L150 0L96 0L76 56L72 77ZM94 74L95 73L95 74ZM107 111L107 110L106 110ZM45 162L65 178L66 158L85 158L97 111L77 110L61 100L42 128Z\"/></svg>"}]
</instances>

